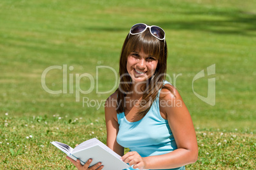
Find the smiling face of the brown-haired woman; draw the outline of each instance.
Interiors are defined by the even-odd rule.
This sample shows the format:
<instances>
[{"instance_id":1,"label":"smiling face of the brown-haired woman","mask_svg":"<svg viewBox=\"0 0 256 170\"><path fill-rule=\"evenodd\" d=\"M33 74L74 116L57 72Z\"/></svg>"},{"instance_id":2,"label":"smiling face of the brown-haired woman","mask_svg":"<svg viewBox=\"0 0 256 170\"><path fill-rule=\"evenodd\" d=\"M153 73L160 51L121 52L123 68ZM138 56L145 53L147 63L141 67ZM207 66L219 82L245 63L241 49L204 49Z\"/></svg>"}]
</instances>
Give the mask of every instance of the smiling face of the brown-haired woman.
<instances>
[{"instance_id":1,"label":"smiling face of the brown-haired woman","mask_svg":"<svg viewBox=\"0 0 256 170\"><path fill-rule=\"evenodd\" d=\"M157 69L156 56L146 55L143 50L132 51L127 57L127 71L133 82L144 82Z\"/></svg>"}]
</instances>

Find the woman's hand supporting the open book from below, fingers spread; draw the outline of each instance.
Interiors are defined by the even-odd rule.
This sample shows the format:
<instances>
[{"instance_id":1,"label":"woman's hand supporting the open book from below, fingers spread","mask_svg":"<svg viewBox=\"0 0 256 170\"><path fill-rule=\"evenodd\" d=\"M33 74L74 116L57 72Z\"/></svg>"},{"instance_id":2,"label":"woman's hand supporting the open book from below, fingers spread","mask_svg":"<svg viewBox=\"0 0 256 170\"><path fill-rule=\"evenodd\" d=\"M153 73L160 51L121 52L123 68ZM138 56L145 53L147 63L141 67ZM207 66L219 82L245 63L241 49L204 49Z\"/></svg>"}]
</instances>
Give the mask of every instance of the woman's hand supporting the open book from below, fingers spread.
<instances>
[{"instance_id":1,"label":"woman's hand supporting the open book from below, fingers spread","mask_svg":"<svg viewBox=\"0 0 256 170\"><path fill-rule=\"evenodd\" d=\"M71 159L71 157L68 157L68 156L66 158L68 160L70 160L77 167L78 170L95 170L95 169L101 170L104 167L104 166L101 165L101 162L98 162L97 164L95 164L94 166L91 166L89 168L90 163L92 162L92 159L88 159L87 162L84 165L82 165L80 163L79 159L73 160L73 159Z\"/></svg>"}]
</instances>

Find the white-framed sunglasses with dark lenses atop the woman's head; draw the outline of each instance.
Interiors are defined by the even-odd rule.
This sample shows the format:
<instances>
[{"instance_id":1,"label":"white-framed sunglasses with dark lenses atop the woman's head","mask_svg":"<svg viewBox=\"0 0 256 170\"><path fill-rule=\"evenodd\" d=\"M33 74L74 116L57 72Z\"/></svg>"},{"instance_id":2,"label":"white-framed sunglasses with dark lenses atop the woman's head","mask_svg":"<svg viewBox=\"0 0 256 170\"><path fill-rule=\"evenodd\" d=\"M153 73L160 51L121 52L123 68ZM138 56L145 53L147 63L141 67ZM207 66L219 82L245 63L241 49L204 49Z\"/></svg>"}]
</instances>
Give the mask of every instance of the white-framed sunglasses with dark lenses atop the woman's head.
<instances>
[{"instance_id":1,"label":"white-framed sunglasses with dark lenses atop the woman's head","mask_svg":"<svg viewBox=\"0 0 256 170\"><path fill-rule=\"evenodd\" d=\"M141 34L146 29L149 29L152 36L156 37L157 39L159 40L166 39L166 33L164 32L163 29L155 25L149 26L149 25L146 25L145 23L136 23L135 25L133 25L131 27L129 34L132 34L132 35Z\"/></svg>"}]
</instances>

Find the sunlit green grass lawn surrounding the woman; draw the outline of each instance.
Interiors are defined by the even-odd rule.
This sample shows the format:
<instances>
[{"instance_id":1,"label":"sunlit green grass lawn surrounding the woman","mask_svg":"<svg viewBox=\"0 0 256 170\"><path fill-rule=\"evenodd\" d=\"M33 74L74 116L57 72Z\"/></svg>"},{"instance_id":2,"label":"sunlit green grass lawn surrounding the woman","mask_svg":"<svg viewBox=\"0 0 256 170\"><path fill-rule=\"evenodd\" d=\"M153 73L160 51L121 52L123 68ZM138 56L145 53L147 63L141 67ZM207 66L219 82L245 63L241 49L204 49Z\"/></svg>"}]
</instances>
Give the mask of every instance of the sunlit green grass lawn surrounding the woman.
<instances>
[{"instance_id":1,"label":"sunlit green grass lawn surrounding the woman","mask_svg":"<svg viewBox=\"0 0 256 170\"><path fill-rule=\"evenodd\" d=\"M187 169L255 169L255 9L255 0L2 0L0 169L73 169L50 141L72 147L92 137L106 142L103 102L117 88L113 70L118 72L122 43L138 22L166 31L167 74L198 138L199 159ZM215 78L211 106L193 93L192 81L213 64L215 74L193 84L206 97L208 78ZM49 89L62 90L57 95L41 85L50 66L61 67L45 79ZM82 74L94 79L94 88L78 98L76 76ZM80 88L87 91L91 83L83 77Z\"/></svg>"}]
</instances>

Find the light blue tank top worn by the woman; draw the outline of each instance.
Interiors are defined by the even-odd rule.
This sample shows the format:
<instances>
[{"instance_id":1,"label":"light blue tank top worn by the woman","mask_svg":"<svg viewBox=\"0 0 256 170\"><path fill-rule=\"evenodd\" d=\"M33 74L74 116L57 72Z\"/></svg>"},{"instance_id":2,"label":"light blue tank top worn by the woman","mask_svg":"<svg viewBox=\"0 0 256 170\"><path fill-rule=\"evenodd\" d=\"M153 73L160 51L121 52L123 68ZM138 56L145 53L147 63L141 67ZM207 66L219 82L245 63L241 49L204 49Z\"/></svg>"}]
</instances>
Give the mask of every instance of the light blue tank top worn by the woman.
<instances>
[{"instance_id":1,"label":"light blue tank top worn by the woman","mask_svg":"<svg viewBox=\"0 0 256 170\"><path fill-rule=\"evenodd\" d=\"M119 124L118 144L129 148L131 151L138 152L141 157L167 154L177 149L168 121L160 115L159 94L153 101L148 113L139 121L127 121L124 112L117 114ZM183 170L185 167L175 169Z\"/></svg>"}]
</instances>

